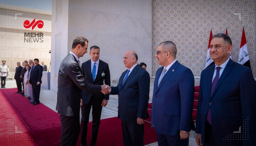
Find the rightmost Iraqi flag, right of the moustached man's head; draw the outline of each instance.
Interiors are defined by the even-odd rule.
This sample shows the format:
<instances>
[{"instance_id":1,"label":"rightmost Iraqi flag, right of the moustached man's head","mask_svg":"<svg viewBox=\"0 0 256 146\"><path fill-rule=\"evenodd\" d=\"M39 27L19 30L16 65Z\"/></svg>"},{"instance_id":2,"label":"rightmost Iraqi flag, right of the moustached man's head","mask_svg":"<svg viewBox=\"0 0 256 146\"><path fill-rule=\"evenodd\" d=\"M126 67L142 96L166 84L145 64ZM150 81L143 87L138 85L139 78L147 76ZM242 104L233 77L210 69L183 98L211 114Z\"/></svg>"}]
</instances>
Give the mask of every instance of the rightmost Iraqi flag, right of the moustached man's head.
<instances>
[{"instance_id":1,"label":"rightmost Iraqi flag, right of the moustached man's head","mask_svg":"<svg viewBox=\"0 0 256 146\"><path fill-rule=\"evenodd\" d=\"M241 39L238 63L251 68L250 57L249 57L248 50L247 50L244 28L243 28L243 32L242 32L242 39Z\"/></svg>"}]
</instances>

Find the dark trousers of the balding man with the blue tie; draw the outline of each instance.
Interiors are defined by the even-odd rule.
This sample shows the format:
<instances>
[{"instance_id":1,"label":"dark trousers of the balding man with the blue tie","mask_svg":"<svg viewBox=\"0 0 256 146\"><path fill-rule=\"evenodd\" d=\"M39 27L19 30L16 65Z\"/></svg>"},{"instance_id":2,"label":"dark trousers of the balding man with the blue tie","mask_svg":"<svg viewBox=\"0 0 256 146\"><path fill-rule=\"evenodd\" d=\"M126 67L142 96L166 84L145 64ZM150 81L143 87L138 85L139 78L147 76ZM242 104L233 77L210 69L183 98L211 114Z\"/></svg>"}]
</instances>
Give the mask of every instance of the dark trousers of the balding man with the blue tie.
<instances>
[{"instance_id":1,"label":"dark trousers of the balding man with the blue tie","mask_svg":"<svg viewBox=\"0 0 256 146\"><path fill-rule=\"evenodd\" d=\"M124 146L144 146L144 124L122 120Z\"/></svg>"}]
</instances>

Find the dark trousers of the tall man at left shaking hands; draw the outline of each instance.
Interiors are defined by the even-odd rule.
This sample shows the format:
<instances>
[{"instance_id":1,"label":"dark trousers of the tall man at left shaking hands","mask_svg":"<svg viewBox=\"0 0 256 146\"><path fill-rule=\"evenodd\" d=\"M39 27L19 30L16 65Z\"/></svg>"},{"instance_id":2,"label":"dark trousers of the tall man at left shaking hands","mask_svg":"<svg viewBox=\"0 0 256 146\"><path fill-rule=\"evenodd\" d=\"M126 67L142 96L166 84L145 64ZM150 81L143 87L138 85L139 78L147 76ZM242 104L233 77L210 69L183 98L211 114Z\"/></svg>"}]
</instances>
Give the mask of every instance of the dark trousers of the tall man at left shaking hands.
<instances>
[{"instance_id":1,"label":"dark trousers of the tall man at left shaking hands","mask_svg":"<svg viewBox=\"0 0 256 146\"><path fill-rule=\"evenodd\" d=\"M60 146L75 146L80 134L79 116L60 115Z\"/></svg>"}]
</instances>

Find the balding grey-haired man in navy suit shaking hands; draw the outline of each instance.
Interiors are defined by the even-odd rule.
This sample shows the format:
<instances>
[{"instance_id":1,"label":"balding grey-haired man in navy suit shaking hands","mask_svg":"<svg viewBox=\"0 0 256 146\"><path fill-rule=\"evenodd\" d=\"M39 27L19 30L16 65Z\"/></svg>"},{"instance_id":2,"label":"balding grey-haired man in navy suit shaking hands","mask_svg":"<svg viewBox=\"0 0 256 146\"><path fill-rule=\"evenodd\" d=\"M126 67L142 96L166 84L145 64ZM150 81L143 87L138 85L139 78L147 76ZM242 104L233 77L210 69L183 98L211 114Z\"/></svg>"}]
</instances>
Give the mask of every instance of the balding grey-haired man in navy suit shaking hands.
<instances>
[{"instance_id":1,"label":"balding grey-haired man in navy suit shaking hands","mask_svg":"<svg viewBox=\"0 0 256 146\"><path fill-rule=\"evenodd\" d=\"M111 94L118 94L118 114L122 120L124 146L143 146L144 119L148 116L149 73L139 66L135 51L127 51L123 62L128 69L111 87Z\"/></svg>"}]
</instances>

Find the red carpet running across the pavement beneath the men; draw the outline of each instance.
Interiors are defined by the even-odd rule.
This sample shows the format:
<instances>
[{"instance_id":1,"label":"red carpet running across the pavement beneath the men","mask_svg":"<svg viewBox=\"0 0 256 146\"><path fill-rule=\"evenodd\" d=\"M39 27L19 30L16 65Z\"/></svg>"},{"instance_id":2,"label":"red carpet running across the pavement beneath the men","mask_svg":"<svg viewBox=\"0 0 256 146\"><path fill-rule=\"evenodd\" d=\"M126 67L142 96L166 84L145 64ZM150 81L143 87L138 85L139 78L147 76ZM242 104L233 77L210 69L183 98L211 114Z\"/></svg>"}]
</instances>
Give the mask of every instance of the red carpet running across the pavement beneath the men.
<instances>
[{"instance_id":1,"label":"red carpet running across the pavement beneath the men","mask_svg":"<svg viewBox=\"0 0 256 146\"><path fill-rule=\"evenodd\" d=\"M33 106L16 89L0 90L0 145L12 146L57 146L60 142L59 114L47 106ZM88 124L87 143L91 139ZM22 132L22 133L21 133ZM155 130L145 122L144 144L156 142ZM80 145L80 137L77 146ZM108 118L101 120L97 146L122 146L121 120Z\"/></svg>"}]
</instances>

